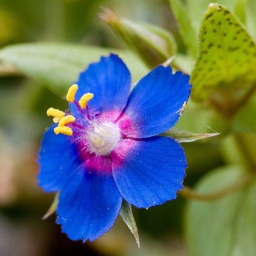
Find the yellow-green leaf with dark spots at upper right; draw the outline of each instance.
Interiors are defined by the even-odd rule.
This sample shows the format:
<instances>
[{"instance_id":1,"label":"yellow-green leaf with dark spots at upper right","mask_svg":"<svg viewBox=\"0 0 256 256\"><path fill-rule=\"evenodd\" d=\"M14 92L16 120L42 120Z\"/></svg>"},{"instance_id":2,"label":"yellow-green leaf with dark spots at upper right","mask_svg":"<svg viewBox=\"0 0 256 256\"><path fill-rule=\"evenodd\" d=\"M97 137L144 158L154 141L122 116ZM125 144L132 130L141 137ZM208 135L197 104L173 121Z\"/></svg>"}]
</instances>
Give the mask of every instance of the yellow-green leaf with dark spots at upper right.
<instances>
[{"instance_id":1,"label":"yellow-green leaf with dark spots at upper right","mask_svg":"<svg viewBox=\"0 0 256 256\"><path fill-rule=\"evenodd\" d=\"M244 26L228 8L210 4L200 29L191 96L204 100L214 97L217 91L225 97L232 95L232 91L244 92L256 80L255 69L255 43Z\"/></svg>"}]
</instances>

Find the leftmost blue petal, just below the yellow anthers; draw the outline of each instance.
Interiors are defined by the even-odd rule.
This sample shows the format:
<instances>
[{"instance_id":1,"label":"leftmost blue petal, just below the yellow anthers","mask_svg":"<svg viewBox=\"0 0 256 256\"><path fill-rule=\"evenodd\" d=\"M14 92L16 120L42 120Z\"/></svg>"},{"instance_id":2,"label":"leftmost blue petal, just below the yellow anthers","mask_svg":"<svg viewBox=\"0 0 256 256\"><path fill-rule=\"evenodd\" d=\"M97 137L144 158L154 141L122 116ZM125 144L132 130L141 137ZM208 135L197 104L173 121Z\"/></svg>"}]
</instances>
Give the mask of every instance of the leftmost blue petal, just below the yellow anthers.
<instances>
[{"instance_id":1,"label":"leftmost blue petal, just below the yellow anthers","mask_svg":"<svg viewBox=\"0 0 256 256\"><path fill-rule=\"evenodd\" d=\"M80 164L75 145L70 143L67 135L56 135L53 132L55 126L52 125L45 133L38 153L38 183L49 192L60 190L67 182L67 177Z\"/></svg>"}]
</instances>

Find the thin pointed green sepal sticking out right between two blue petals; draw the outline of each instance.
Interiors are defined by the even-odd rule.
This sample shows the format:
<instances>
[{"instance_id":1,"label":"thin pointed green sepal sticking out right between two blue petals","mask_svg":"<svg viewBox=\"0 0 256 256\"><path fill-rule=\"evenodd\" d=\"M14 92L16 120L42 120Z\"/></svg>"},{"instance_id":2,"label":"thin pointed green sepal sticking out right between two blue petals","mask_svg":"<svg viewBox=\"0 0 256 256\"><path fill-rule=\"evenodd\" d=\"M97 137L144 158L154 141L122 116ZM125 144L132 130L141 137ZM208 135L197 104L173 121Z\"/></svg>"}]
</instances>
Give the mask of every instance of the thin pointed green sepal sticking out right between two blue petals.
<instances>
[{"instance_id":1,"label":"thin pointed green sepal sticking out right between two blue petals","mask_svg":"<svg viewBox=\"0 0 256 256\"><path fill-rule=\"evenodd\" d=\"M191 132L181 131L176 128L172 128L160 135L171 137L173 139L176 139L179 142L192 142L195 140L216 136L216 135L219 135L219 133L191 133Z\"/></svg>"}]
</instances>

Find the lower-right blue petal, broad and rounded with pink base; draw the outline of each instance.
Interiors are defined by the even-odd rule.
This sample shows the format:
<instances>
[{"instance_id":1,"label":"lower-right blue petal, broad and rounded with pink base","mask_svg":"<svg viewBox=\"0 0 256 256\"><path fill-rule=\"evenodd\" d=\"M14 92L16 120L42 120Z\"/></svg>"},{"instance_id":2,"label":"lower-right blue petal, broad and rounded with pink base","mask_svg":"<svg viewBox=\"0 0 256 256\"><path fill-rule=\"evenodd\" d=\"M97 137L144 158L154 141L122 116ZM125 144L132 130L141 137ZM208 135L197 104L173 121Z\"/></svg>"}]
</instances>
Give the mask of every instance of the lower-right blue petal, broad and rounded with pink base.
<instances>
[{"instance_id":1,"label":"lower-right blue petal, broad and rounded with pink base","mask_svg":"<svg viewBox=\"0 0 256 256\"><path fill-rule=\"evenodd\" d=\"M126 143L130 143L125 139ZM132 144L132 143L130 143ZM112 152L113 176L123 198L137 207L149 207L175 199L182 188L187 166L181 145L167 137L135 140L121 159L122 147Z\"/></svg>"}]
</instances>

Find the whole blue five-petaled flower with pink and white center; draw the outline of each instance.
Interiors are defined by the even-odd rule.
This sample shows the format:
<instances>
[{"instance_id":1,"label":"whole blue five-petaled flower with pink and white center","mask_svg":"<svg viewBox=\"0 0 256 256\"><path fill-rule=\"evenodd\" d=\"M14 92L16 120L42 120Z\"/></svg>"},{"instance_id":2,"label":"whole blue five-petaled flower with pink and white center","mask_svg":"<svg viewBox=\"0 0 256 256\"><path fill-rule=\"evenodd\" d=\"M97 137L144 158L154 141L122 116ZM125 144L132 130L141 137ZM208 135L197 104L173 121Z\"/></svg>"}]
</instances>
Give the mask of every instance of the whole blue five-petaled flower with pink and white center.
<instances>
[{"instance_id":1,"label":"whole blue five-petaled flower with pink and white center","mask_svg":"<svg viewBox=\"0 0 256 256\"><path fill-rule=\"evenodd\" d=\"M122 200L147 208L175 199L182 188L184 150L157 135L182 114L189 76L159 66L132 92L131 83L117 55L101 57L69 89L70 114L48 110L55 124L42 140L39 185L60 191L57 223L73 240L102 236Z\"/></svg>"}]
</instances>

